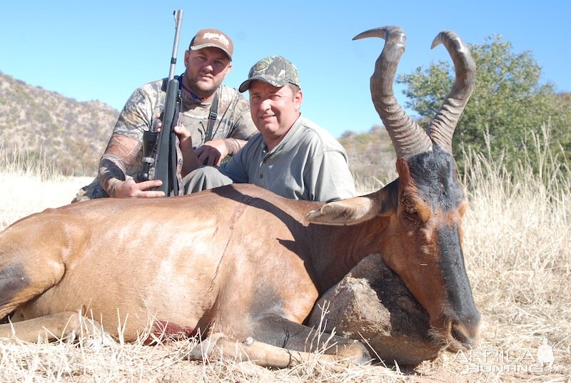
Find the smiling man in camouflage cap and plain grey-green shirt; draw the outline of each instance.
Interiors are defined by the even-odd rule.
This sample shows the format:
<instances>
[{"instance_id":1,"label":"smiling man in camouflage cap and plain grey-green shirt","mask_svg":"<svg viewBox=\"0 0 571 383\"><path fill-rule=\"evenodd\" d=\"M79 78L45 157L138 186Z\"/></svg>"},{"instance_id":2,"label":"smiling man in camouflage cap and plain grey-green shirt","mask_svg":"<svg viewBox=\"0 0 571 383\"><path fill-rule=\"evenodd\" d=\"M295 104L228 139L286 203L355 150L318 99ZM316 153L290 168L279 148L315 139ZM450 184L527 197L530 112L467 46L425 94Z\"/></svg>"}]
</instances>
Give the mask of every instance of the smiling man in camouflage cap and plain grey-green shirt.
<instances>
[{"instance_id":1,"label":"smiling man in camouflage cap and plain grey-green shirt","mask_svg":"<svg viewBox=\"0 0 571 383\"><path fill-rule=\"evenodd\" d=\"M355 195L343 146L327 131L301 116L303 92L297 68L269 56L250 70L239 90L250 93L251 115L259 133L219 168L188 159L194 154L183 127L181 137L185 193L230 183L253 183L285 198L330 201ZM190 173L189 173L190 172Z\"/></svg>"}]
</instances>

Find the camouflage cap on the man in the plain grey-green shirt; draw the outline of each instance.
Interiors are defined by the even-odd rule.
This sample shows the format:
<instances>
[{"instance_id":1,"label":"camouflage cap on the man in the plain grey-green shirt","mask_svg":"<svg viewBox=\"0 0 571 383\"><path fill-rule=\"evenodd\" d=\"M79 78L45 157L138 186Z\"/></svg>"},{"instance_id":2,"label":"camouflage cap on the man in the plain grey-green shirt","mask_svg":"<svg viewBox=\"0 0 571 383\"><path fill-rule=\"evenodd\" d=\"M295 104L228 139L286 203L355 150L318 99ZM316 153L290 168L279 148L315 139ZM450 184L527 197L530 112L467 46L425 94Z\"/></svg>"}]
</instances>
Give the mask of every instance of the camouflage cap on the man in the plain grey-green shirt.
<instances>
[{"instance_id":1,"label":"camouflage cap on the man in the plain grey-green shirt","mask_svg":"<svg viewBox=\"0 0 571 383\"><path fill-rule=\"evenodd\" d=\"M264 81L273 86L291 83L301 88L298 68L282 56L268 56L255 63L248 73L248 80L242 83L239 90L247 91L251 82L255 80Z\"/></svg>"}]
</instances>

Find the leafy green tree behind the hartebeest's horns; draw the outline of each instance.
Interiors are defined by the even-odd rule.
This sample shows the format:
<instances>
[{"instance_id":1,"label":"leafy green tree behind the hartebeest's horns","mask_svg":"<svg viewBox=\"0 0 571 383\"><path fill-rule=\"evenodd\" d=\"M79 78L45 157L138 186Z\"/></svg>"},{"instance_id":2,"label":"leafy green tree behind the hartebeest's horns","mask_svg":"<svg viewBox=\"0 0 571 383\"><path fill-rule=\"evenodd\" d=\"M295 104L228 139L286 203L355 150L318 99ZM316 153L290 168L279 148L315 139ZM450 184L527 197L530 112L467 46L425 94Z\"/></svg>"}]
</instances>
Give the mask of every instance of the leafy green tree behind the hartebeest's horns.
<instances>
[{"instance_id":1,"label":"leafy green tree behind the hartebeest's horns","mask_svg":"<svg viewBox=\"0 0 571 383\"><path fill-rule=\"evenodd\" d=\"M515 165L532 149L532 132L550 123L552 145L571 149L571 103L555 93L552 83L540 83L541 67L530 51L513 53L512 44L501 36L490 36L470 51L477 66L476 88L458 121L453 150L460 145L477 152L485 150L485 133L490 133L492 156L505 154L508 165ZM398 77L405 84L405 106L420 116L428 127L454 81L452 63L439 61L427 69ZM462 163L459 164L462 166Z\"/></svg>"}]
</instances>

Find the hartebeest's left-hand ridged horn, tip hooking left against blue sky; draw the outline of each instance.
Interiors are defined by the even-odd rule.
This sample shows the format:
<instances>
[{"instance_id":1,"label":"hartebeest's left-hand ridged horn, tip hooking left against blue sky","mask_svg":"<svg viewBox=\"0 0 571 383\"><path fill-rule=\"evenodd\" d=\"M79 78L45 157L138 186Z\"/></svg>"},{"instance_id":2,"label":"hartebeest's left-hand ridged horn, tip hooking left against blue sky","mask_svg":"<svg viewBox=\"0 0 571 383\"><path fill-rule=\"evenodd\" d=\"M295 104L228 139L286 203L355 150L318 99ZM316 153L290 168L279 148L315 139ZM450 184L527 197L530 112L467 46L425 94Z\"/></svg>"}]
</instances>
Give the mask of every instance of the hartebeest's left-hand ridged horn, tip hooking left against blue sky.
<instances>
[{"instance_id":1,"label":"hartebeest's left-hand ridged horn, tip hooking left against blue sky","mask_svg":"<svg viewBox=\"0 0 571 383\"><path fill-rule=\"evenodd\" d=\"M406 35L398 26L382 26L353 37L380 37L385 46L370 77L370 93L380 119L385 124L398 157L410 157L433 149L433 143L416 121L398 104L393 93L393 81L400 56L405 51Z\"/></svg>"}]
</instances>

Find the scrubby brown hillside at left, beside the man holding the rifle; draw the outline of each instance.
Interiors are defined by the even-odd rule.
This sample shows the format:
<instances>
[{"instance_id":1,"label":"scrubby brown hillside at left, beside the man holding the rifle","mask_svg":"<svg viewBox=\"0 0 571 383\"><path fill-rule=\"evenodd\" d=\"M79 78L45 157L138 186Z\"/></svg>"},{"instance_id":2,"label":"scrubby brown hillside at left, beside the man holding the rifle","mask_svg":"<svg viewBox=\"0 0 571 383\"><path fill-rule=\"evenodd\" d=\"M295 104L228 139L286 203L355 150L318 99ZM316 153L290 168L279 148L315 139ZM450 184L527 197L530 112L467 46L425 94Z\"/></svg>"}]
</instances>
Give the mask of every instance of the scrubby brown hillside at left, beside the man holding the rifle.
<instances>
[{"instance_id":1,"label":"scrubby brown hillside at left, beside the man holding the rifle","mask_svg":"<svg viewBox=\"0 0 571 383\"><path fill-rule=\"evenodd\" d=\"M65 175L94 175L118 111L78 102L0 72L0 143L53 161Z\"/></svg>"}]
</instances>

